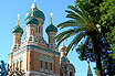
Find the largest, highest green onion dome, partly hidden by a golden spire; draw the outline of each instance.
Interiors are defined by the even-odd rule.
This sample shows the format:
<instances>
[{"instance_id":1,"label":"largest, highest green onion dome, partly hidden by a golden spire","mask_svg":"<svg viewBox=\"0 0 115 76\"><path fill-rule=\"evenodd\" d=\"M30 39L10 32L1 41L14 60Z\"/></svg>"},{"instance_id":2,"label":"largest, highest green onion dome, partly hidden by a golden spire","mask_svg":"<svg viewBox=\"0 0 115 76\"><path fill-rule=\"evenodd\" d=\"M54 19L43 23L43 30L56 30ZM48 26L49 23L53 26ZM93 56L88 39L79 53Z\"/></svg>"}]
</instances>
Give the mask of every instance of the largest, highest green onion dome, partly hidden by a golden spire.
<instances>
[{"instance_id":1,"label":"largest, highest green onion dome, partly hidden by a golden spire","mask_svg":"<svg viewBox=\"0 0 115 76\"><path fill-rule=\"evenodd\" d=\"M28 11L27 14L25 14L25 20L28 20L29 18L31 18L31 14L32 14L31 10ZM40 18L43 21L45 20L44 13L41 10L39 10L38 8L33 9L33 15L34 15L34 18Z\"/></svg>"}]
</instances>

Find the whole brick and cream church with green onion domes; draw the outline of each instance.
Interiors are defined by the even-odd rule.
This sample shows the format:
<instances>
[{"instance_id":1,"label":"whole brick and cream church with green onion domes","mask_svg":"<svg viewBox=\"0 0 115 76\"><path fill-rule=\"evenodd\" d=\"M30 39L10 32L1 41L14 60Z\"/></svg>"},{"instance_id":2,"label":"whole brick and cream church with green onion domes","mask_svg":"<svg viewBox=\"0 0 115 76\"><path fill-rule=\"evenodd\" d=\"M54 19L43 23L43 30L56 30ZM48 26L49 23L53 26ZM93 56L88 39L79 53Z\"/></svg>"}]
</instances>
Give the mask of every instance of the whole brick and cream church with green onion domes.
<instances>
[{"instance_id":1,"label":"whole brick and cream church with green onion domes","mask_svg":"<svg viewBox=\"0 0 115 76\"><path fill-rule=\"evenodd\" d=\"M56 26L52 23L45 29L49 43L43 37L44 13L36 8L35 0L32 9L25 14L27 33L21 42L23 30L18 23L12 30L13 44L9 53L9 66L25 72L25 76L75 76L75 67L65 56L64 43L55 44Z\"/></svg>"}]
</instances>

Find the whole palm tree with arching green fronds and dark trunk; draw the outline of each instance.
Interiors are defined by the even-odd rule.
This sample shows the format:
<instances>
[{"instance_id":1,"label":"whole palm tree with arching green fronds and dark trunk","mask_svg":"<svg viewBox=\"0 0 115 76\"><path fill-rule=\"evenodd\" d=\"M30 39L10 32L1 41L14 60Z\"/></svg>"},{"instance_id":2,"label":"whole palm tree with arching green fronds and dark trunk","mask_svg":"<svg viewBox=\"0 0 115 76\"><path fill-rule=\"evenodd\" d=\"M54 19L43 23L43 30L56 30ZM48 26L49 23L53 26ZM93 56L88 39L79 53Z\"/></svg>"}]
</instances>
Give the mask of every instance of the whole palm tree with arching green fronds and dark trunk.
<instances>
[{"instance_id":1,"label":"whole palm tree with arching green fronds and dark trunk","mask_svg":"<svg viewBox=\"0 0 115 76\"><path fill-rule=\"evenodd\" d=\"M101 41L101 25L98 24L98 20L95 17L92 17L87 12L83 6L83 3L79 2L77 7L69 6L69 9L66 10L67 15L66 18L70 18L71 20L65 21L58 25L58 28L65 29L69 28L69 30L63 31L62 33L58 34L55 36L58 45L60 45L64 40L74 36L73 41L69 44L66 48L66 55L70 52L70 50L76 47L76 45L85 39L85 42L83 44L87 45L90 43L93 51L94 58L96 62L96 70L97 76L102 76L102 64L101 64L101 47L100 47L100 41ZM86 53L86 52L84 52Z\"/></svg>"}]
</instances>

